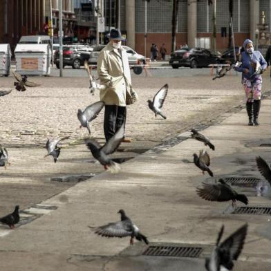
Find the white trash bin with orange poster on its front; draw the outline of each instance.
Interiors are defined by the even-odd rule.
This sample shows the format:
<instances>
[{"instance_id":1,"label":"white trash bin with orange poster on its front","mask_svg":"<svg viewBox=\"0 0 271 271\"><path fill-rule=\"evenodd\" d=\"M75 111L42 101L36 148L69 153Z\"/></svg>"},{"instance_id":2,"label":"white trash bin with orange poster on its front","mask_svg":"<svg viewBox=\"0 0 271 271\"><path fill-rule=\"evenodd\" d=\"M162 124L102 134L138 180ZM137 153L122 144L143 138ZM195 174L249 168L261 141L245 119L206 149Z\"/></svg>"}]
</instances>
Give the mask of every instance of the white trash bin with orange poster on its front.
<instances>
[{"instance_id":1,"label":"white trash bin with orange poster on its front","mask_svg":"<svg viewBox=\"0 0 271 271\"><path fill-rule=\"evenodd\" d=\"M49 75L50 48L48 44L17 44L16 71L20 75Z\"/></svg>"}]
</instances>

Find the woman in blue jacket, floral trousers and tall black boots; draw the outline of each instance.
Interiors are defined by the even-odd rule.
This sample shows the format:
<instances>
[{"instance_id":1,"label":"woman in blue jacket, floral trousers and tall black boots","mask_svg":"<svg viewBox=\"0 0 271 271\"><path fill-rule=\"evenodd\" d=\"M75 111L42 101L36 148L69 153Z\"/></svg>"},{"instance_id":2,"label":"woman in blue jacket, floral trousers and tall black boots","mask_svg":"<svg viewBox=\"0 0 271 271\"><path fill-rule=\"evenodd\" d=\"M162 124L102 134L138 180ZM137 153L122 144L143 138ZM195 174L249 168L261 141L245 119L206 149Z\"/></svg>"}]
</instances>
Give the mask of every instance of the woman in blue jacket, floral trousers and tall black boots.
<instances>
[{"instance_id":1,"label":"woman in blue jacket, floral trousers and tall black boots","mask_svg":"<svg viewBox=\"0 0 271 271\"><path fill-rule=\"evenodd\" d=\"M247 100L248 125L259 125L258 117L261 108L261 86L263 82L261 73L265 71L267 63L263 55L258 50L254 50L253 42L250 39L245 39L243 48L245 50L239 58L242 64L235 69L242 73L242 84ZM260 69L259 74L254 75L257 66Z\"/></svg>"}]
</instances>

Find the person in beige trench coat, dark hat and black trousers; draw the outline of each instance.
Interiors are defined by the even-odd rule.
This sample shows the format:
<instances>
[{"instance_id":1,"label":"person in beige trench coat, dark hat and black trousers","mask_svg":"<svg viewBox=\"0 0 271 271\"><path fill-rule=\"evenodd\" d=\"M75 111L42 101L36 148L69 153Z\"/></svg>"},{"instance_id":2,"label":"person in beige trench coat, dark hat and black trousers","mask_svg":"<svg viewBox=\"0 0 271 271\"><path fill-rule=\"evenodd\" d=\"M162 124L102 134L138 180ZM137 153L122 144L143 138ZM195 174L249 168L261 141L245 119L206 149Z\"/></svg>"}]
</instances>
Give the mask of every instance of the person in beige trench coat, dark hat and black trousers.
<instances>
[{"instance_id":1,"label":"person in beige trench coat, dark hat and black trousers","mask_svg":"<svg viewBox=\"0 0 271 271\"><path fill-rule=\"evenodd\" d=\"M126 50L121 46L120 30L111 29L107 44L97 60L97 73L106 88L100 91L100 99L105 104L104 136L109 140L126 122L126 91L131 87L131 73ZM131 142L124 138L123 142Z\"/></svg>"}]
</instances>

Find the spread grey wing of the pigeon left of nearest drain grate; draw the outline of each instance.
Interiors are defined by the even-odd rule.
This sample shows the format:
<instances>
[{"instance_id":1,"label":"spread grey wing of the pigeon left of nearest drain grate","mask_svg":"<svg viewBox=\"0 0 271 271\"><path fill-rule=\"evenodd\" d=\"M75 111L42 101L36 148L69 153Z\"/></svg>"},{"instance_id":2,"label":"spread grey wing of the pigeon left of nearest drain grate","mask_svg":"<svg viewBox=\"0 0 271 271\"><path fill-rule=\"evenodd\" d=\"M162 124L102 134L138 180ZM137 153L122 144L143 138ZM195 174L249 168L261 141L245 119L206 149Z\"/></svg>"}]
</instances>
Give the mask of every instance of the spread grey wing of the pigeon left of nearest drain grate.
<instances>
[{"instance_id":1,"label":"spread grey wing of the pigeon left of nearest drain grate","mask_svg":"<svg viewBox=\"0 0 271 271\"><path fill-rule=\"evenodd\" d=\"M106 237L125 237L131 236L132 230L128 229L124 221L119 221L115 223L109 223L101 227L97 227L94 230L95 234L106 236Z\"/></svg>"}]
</instances>

